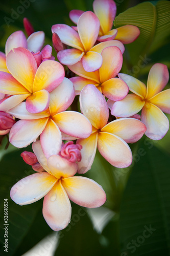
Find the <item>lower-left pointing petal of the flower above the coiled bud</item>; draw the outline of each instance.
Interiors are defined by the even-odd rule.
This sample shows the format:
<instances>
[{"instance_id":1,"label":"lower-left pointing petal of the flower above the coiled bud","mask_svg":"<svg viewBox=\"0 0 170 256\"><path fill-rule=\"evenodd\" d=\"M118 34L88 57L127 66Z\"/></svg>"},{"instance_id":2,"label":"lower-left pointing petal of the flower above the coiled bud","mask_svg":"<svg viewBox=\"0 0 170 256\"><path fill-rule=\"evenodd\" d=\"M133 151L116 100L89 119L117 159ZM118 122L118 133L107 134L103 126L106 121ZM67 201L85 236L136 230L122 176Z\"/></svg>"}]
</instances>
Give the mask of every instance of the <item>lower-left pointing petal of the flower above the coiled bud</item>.
<instances>
[{"instance_id":1,"label":"lower-left pointing petal of the flower above the coiled bud","mask_svg":"<svg viewBox=\"0 0 170 256\"><path fill-rule=\"evenodd\" d=\"M26 147L42 133L48 118L19 120L11 128L9 141L16 147Z\"/></svg>"}]
</instances>

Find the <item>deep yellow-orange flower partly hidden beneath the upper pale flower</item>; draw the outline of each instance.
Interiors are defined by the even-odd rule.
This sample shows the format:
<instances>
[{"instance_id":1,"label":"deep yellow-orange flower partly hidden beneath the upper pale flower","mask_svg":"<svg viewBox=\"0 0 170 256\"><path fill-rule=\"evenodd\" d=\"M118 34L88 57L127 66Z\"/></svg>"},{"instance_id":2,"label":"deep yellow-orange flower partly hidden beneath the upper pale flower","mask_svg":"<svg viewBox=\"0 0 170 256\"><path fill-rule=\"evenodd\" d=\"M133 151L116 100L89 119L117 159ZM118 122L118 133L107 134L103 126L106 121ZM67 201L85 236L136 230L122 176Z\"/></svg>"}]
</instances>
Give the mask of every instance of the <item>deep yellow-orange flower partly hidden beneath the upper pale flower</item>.
<instances>
[{"instance_id":1,"label":"deep yellow-orange flower partly hidden beneath the upper pale flower","mask_svg":"<svg viewBox=\"0 0 170 256\"><path fill-rule=\"evenodd\" d=\"M102 67L95 72L86 72L81 61L68 66L72 72L79 75L70 78L74 83L76 94L79 95L87 84L94 84L101 93L111 100L116 101L125 98L129 88L122 79L115 77L122 69L122 52L118 47L110 46L105 48L101 55L103 58Z\"/></svg>"}]
</instances>

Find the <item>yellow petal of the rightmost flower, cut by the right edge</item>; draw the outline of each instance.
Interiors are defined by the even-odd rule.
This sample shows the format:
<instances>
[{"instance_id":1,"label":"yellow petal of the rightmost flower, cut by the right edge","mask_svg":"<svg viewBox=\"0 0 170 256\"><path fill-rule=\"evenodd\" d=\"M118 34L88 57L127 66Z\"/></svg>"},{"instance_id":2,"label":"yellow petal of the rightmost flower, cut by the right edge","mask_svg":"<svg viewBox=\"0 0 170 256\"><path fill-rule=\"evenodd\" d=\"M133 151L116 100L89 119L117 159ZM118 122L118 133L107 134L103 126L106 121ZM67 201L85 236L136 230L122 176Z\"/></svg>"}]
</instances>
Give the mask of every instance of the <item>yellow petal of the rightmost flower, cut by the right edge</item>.
<instances>
[{"instance_id":1,"label":"yellow petal of the rightmost flower, cut by the right edge","mask_svg":"<svg viewBox=\"0 0 170 256\"><path fill-rule=\"evenodd\" d=\"M170 114L170 89L156 94L150 102L156 105L161 111Z\"/></svg>"}]
</instances>

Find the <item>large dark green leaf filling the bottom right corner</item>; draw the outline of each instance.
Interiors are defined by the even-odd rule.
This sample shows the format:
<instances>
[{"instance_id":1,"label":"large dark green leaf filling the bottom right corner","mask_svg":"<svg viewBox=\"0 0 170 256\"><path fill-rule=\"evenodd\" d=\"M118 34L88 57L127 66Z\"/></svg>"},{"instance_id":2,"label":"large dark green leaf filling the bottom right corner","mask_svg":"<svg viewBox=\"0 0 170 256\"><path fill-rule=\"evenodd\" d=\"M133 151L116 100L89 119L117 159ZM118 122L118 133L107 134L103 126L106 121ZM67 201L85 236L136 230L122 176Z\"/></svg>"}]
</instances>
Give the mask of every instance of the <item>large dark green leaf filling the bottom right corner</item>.
<instances>
[{"instance_id":1,"label":"large dark green leaf filling the bottom right corner","mask_svg":"<svg viewBox=\"0 0 170 256\"><path fill-rule=\"evenodd\" d=\"M170 158L149 140L140 147L120 208L120 255L170 255Z\"/></svg>"}]
</instances>

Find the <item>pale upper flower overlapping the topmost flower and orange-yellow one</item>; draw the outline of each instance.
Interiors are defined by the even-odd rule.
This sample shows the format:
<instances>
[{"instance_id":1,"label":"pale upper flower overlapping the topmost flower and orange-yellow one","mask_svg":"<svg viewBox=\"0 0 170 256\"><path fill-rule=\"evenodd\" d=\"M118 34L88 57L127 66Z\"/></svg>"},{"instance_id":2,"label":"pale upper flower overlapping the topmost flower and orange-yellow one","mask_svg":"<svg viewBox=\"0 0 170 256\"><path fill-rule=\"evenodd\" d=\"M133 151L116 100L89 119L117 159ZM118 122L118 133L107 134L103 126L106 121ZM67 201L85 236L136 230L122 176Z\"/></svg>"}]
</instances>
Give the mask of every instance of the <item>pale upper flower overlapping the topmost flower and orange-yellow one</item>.
<instances>
[{"instance_id":1,"label":"pale upper flower overlapping the topmost flower and orange-yellow one","mask_svg":"<svg viewBox=\"0 0 170 256\"><path fill-rule=\"evenodd\" d=\"M64 65L70 66L81 60L85 71L93 72L98 70L102 66L100 53L107 47L105 45L94 46L99 34L99 28L99 19L91 11L84 12L79 18L78 32L64 24L53 25L52 32L58 34L63 44L76 48L60 51L57 54L59 61ZM117 41L113 42L114 44L118 46ZM120 47L123 48L121 45ZM100 48L102 48L101 52L99 52Z\"/></svg>"}]
</instances>

